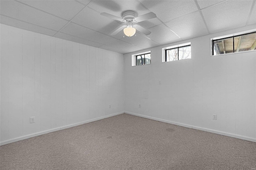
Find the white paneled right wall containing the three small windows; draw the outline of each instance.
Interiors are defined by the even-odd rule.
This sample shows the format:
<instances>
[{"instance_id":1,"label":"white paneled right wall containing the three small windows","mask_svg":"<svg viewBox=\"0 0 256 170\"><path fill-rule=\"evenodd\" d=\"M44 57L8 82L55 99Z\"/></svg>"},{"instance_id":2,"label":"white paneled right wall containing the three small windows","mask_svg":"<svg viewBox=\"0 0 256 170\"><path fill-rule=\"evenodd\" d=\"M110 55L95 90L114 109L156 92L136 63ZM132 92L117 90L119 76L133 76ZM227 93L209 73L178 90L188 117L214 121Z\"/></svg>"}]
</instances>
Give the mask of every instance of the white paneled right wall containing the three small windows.
<instances>
[{"instance_id":1,"label":"white paneled right wall containing the three small windows","mask_svg":"<svg viewBox=\"0 0 256 170\"><path fill-rule=\"evenodd\" d=\"M255 26L146 49L148 65L125 54L125 112L256 142L256 51L212 57L210 41ZM192 59L162 63L162 48L188 42Z\"/></svg>"}]
</instances>

